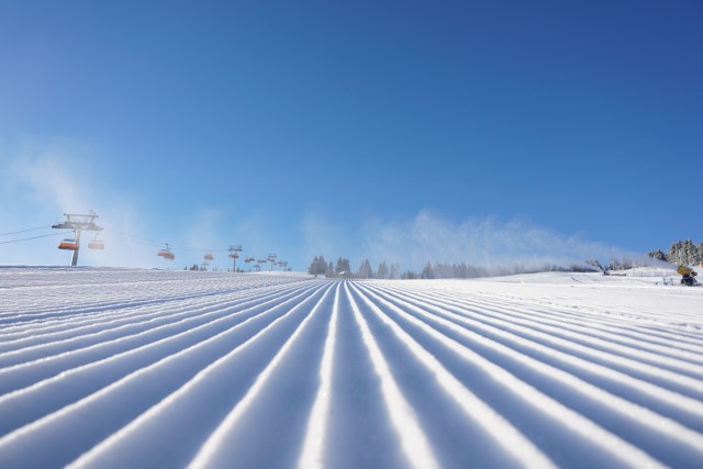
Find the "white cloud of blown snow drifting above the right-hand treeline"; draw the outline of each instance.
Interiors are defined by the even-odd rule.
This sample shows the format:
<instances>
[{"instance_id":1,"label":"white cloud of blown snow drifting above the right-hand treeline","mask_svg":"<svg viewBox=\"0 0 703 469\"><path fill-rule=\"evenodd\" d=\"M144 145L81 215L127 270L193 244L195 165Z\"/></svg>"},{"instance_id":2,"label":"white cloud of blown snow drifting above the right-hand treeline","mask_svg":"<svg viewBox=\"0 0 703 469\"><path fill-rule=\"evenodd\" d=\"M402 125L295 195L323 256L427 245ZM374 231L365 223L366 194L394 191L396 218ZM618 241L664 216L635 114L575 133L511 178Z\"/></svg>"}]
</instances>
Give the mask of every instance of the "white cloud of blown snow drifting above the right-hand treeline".
<instances>
[{"instance_id":1,"label":"white cloud of blown snow drifting above the right-hand treeline","mask_svg":"<svg viewBox=\"0 0 703 469\"><path fill-rule=\"evenodd\" d=\"M424 210L410 222L368 227L369 258L398 263L403 269L420 270L427 261L465 263L493 273L511 266L527 270L546 265L583 266L587 259L602 265L612 259L652 261L641 254L563 236L524 220L499 222L489 217L456 223Z\"/></svg>"}]
</instances>

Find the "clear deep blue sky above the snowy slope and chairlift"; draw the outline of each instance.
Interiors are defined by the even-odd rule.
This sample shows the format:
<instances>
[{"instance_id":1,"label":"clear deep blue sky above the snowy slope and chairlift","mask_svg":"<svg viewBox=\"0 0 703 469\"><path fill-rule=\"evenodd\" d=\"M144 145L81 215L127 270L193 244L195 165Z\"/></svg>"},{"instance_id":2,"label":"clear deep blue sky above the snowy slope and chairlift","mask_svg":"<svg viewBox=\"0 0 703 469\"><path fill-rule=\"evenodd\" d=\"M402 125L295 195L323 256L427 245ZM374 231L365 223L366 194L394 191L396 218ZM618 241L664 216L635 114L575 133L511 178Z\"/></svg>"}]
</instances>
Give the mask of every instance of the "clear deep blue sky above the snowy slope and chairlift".
<instances>
[{"instance_id":1,"label":"clear deep blue sky above the snowy slope and chairlift","mask_svg":"<svg viewBox=\"0 0 703 469\"><path fill-rule=\"evenodd\" d=\"M378 263L428 219L461 233L443 243L703 241L682 202L702 20L698 1L0 0L0 233L94 209L111 249L86 264L163 266L120 231L193 247L180 268L231 244ZM64 264L56 241L0 264Z\"/></svg>"}]
</instances>

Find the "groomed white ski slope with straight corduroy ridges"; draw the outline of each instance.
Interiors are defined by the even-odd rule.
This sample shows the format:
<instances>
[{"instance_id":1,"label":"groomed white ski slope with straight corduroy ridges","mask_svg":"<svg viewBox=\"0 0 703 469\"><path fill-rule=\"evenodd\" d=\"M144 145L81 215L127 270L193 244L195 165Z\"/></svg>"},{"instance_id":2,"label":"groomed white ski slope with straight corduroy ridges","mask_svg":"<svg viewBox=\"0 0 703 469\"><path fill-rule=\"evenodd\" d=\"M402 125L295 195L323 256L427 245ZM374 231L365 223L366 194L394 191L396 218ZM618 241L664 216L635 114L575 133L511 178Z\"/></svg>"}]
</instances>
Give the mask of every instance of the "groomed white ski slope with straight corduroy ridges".
<instances>
[{"instance_id":1,"label":"groomed white ski slope with straight corduroy ridges","mask_svg":"<svg viewBox=\"0 0 703 469\"><path fill-rule=\"evenodd\" d=\"M0 467L701 467L656 280L0 268Z\"/></svg>"}]
</instances>

